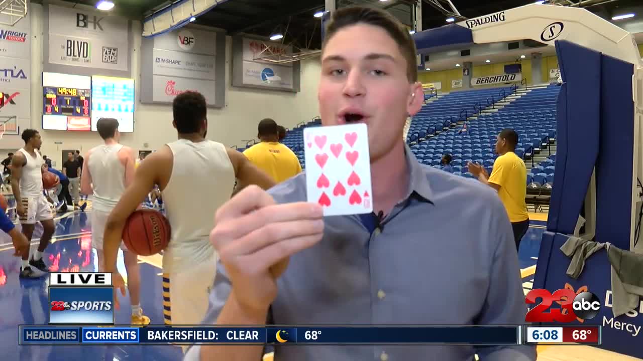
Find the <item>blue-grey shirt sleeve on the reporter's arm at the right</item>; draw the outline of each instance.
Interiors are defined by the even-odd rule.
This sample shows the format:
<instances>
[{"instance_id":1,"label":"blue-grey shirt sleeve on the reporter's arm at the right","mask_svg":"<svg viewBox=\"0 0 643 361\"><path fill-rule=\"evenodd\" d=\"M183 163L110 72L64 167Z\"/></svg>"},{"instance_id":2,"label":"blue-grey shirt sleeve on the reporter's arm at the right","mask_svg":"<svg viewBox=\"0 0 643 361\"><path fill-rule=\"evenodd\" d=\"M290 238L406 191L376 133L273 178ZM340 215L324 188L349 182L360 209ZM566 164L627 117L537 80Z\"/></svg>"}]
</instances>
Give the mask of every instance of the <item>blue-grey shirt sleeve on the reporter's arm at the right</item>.
<instances>
[{"instance_id":1,"label":"blue-grey shirt sleeve on the reporter's arm at the right","mask_svg":"<svg viewBox=\"0 0 643 361\"><path fill-rule=\"evenodd\" d=\"M525 295L520 277L518 252L513 231L500 198L493 200L491 211L491 237L496 241L489 288L485 303L475 324L525 324ZM485 361L535 361L536 346L489 346L476 348L480 360Z\"/></svg>"}]
</instances>

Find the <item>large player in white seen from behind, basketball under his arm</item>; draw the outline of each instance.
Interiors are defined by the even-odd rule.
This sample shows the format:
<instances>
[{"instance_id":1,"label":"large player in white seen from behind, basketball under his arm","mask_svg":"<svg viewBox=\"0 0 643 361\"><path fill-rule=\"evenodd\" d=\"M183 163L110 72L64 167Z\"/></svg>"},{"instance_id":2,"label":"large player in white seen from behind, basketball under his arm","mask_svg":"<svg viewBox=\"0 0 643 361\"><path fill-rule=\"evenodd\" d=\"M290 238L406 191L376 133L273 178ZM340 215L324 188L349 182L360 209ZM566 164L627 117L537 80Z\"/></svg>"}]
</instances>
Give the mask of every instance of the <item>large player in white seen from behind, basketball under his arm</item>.
<instances>
[{"instance_id":1,"label":"large player in white seen from behind, basketball under his arm","mask_svg":"<svg viewBox=\"0 0 643 361\"><path fill-rule=\"evenodd\" d=\"M116 253L125 220L158 184L172 227L172 238L163 251L165 322L199 324L208 309L217 261L208 240L215 211L230 198L235 177L241 184L264 189L275 182L237 150L205 139L208 120L203 95L179 94L172 110L179 139L145 157L110 213L105 225L105 267L114 273L114 285L122 286ZM143 238L135 241L145 242Z\"/></svg>"}]
</instances>

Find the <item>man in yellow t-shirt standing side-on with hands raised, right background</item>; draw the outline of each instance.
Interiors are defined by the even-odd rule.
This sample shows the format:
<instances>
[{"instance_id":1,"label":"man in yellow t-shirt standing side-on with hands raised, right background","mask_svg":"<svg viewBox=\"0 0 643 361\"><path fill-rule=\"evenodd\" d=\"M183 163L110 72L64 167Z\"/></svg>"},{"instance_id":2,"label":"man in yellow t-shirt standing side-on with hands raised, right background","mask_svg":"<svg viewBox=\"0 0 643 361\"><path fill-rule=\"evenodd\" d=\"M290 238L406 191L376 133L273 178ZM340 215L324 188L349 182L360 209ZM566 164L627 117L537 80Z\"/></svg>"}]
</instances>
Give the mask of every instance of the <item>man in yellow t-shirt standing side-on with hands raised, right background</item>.
<instances>
[{"instance_id":1,"label":"man in yellow t-shirt standing side-on with hands raised, right background","mask_svg":"<svg viewBox=\"0 0 643 361\"><path fill-rule=\"evenodd\" d=\"M504 129L498 134L496 153L500 157L493 163L491 176L487 174L482 165L469 163L471 174L481 182L489 184L498 191L509 221L514 229L516 250L520 247L520 240L529 229L529 214L527 213L527 167L525 162L514 153L518 144L518 134L513 129Z\"/></svg>"}]
</instances>

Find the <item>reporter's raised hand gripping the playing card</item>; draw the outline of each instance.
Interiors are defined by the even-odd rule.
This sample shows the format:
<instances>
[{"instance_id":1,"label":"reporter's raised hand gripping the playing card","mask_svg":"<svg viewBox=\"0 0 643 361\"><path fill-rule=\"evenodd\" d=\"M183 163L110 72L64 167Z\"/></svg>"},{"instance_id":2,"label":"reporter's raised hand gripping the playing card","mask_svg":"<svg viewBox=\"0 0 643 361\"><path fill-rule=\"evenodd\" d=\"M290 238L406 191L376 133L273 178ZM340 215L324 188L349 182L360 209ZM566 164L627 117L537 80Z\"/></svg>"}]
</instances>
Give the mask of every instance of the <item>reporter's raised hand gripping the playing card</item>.
<instances>
[{"instance_id":1,"label":"reporter's raised hand gripping the playing card","mask_svg":"<svg viewBox=\"0 0 643 361\"><path fill-rule=\"evenodd\" d=\"M317 204L276 204L258 186L248 186L221 206L210 241L232 284L239 305L266 311L277 294L276 279L288 258L323 236L323 210Z\"/></svg>"}]
</instances>

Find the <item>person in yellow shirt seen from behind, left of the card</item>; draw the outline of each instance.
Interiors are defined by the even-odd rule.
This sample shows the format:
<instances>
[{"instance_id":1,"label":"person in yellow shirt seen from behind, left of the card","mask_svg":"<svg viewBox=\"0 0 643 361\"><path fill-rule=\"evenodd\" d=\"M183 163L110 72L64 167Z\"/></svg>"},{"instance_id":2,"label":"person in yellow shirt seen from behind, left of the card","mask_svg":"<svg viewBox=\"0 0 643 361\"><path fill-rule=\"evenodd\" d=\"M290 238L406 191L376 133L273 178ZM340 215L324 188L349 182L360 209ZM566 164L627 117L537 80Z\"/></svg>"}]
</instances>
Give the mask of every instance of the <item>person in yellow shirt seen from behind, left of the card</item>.
<instances>
[{"instance_id":1,"label":"person in yellow shirt seen from behind, left of the card","mask_svg":"<svg viewBox=\"0 0 643 361\"><path fill-rule=\"evenodd\" d=\"M268 173L277 183L302 172L297 156L290 148L279 143L278 126L273 119L266 118L259 122L257 136L261 143L243 152L255 166Z\"/></svg>"}]
</instances>

